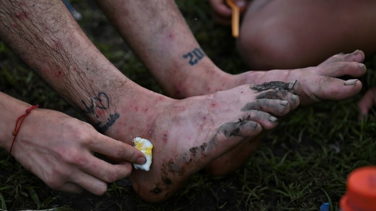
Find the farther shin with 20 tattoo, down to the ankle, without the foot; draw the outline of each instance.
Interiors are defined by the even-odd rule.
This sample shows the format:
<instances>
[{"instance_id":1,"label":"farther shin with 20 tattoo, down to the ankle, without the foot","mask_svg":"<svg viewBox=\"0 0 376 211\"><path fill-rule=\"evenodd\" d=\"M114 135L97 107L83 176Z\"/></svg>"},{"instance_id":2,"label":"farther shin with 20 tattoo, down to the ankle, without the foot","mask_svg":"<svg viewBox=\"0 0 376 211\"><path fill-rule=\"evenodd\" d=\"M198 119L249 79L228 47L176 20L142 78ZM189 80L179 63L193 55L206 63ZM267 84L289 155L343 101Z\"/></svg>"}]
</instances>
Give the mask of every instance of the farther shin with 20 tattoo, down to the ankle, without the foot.
<instances>
[{"instance_id":1,"label":"farther shin with 20 tattoo, down to the ankle, without the foot","mask_svg":"<svg viewBox=\"0 0 376 211\"><path fill-rule=\"evenodd\" d=\"M190 80L200 80L204 71L211 72L217 68L194 38L174 0L152 3L147 0L98 2L123 38L163 86L189 84ZM212 74L212 77L219 77L219 74L225 73L212 71ZM170 88L179 89L167 87Z\"/></svg>"}]
</instances>

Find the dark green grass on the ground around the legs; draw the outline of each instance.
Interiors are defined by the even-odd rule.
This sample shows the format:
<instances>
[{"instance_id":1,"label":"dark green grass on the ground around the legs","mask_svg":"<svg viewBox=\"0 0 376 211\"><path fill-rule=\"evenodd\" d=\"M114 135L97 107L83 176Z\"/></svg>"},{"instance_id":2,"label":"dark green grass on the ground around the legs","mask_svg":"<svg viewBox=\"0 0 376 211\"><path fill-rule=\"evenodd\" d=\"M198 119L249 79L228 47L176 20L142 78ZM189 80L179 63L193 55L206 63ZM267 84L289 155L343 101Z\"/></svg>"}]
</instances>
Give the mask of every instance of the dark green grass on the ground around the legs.
<instances>
[{"instance_id":1,"label":"dark green grass on the ground around the legs","mask_svg":"<svg viewBox=\"0 0 376 211\"><path fill-rule=\"evenodd\" d=\"M103 54L130 79L162 92L95 5L91 1L75 4L84 15L79 23ZM214 63L230 73L245 70L230 28L213 22L207 1L178 4ZM365 89L376 85L375 61L367 63L368 73L362 79ZM71 112L71 106L2 43L0 68L0 91L30 104ZM376 164L376 113L373 110L359 122L356 103L360 97L299 109L263 141L244 168L224 177L200 172L173 199L160 204L139 199L127 179L110 184L103 196L50 190L0 150L0 209L318 211L330 200L336 210L349 172Z\"/></svg>"}]
</instances>

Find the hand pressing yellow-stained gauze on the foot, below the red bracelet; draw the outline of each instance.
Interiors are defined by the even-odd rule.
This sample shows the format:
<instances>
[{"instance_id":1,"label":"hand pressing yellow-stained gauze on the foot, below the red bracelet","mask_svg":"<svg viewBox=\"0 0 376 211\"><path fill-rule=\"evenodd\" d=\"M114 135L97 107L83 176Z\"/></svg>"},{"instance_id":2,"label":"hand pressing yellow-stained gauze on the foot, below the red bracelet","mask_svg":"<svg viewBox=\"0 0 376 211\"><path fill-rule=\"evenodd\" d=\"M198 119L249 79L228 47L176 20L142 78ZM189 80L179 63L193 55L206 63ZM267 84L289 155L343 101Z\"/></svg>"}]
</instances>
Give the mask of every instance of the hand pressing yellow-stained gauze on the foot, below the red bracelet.
<instances>
[{"instance_id":1,"label":"hand pressing yellow-stained gauze on the foot, below the red bracelet","mask_svg":"<svg viewBox=\"0 0 376 211\"><path fill-rule=\"evenodd\" d=\"M120 161L107 163L94 152ZM107 183L129 176L131 163L143 164L138 149L97 132L66 114L34 109L25 119L12 155L47 186L66 192L101 195Z\"/></svg>"}]
</instances>

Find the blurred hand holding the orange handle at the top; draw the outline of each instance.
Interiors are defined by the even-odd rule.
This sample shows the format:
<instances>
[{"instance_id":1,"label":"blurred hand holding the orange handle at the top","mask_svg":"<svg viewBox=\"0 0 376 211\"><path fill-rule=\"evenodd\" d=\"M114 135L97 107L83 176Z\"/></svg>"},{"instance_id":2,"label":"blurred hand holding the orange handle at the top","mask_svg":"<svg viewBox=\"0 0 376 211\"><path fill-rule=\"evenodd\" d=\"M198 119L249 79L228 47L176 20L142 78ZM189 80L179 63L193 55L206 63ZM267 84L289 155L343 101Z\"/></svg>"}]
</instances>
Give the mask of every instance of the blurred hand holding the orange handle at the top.
<instances>
[{"instance_id":1,"label":"blurred hand holding the orange handle at the top","mask_svg":"<svg viewBox=\"0 0 376 211\"><path fill-rule=\"evenodd\" d=\"M209 1L214 11L214 20L224 25L230 25L231 15L233 12L231 8L226 4L225 0ZM235 0L235 4L240 7L240 12L243 11L247 3L248 2L246 0Z\"/></svg>"}]
</instances>

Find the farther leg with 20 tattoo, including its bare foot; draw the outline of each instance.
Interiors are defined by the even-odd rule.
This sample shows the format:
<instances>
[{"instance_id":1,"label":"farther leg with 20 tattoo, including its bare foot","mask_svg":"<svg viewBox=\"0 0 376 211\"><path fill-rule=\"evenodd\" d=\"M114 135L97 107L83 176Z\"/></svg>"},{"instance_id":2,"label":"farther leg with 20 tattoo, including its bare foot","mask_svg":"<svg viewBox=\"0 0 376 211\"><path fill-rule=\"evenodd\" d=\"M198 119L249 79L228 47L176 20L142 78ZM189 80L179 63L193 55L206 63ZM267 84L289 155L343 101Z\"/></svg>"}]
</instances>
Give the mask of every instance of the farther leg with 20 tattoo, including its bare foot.
<instances>
[{"instance_id":1,"label":"farther leg with 20 tattoo, including its bare foot","mask_svg":"<svg viewBox=\"0 0 376 211\"><path fill-rule=\"evenodd\" d=\"M321 100L347 99L361 89L359 81L345 82L336 78L343 75L358 77L365 73L365 67L360 64L364 59L361 51L333 56L318 67L230 75L216 67L203 53L174 1L161 0L150 5L142 0L127 4L121 0L113 0L111 3L99 0L99 4L164 91L175 98L215 93L242 84L299 80L304 90L301 101L304 105L310 105ZM257 7L253 10L256 12L267 4L255 1L251 5L252 8ZM148 27L140 27L142 25ZM238 168L253 152L255 140L253 138L252 142L243 142L238 149L222 156L208 169L212 173L223 174ZM239 160L237 165L234 165L234 159ZM228 165L229 168L221 166L221 163L226 162L232 165Z\"/></svg>"}]
</instances>

